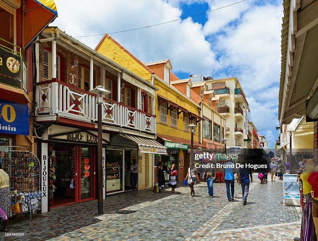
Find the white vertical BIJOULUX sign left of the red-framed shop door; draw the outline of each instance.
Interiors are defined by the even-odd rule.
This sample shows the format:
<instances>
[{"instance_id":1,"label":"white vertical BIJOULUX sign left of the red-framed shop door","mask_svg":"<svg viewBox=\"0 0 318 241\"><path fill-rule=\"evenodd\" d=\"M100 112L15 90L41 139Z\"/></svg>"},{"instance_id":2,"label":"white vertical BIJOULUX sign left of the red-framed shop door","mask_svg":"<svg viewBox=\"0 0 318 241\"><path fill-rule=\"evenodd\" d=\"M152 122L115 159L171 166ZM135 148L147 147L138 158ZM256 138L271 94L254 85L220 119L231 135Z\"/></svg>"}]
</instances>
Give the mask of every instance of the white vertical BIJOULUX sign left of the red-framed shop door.
<instances>
[{"instance_id":1,"label":"white vertical BIJOULUX sign left of the red-framed shop door","mask_svg":"<svg viewBox=\"0 0 318 241\"><path fill-rule=\"evenodd\" d=\"M48 148L47 143L42 143L41 146L41 189L42 189L42 213L48 212L48 197L50 195L48 188L48 176L49 176L49 160L48 160Z\"/></svg>"}]
</instances>

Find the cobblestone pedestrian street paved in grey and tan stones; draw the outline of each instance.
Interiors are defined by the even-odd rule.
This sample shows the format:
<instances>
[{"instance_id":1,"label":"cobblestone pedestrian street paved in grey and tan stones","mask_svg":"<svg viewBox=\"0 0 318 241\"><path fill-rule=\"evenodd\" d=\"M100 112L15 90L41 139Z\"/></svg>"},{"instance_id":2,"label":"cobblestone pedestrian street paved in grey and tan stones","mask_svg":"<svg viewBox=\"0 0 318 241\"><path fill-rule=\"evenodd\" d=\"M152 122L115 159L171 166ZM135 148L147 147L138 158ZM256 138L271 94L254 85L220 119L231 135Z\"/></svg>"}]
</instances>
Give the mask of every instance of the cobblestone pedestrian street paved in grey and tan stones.
<instances>
[{"instance_id":1,"label":"cobblestone pedestrian street paved in grey and tan stones","mask_svg":"<svg viewBox=\"0 0 318 241\"><path fill-rule=\"evenodd\" d=\"M10 221L9 232L24 233L19 240L299 240L300 207L289 200L283 207L283 182L253 180L246 206L237 182L235 202L227 201L225 183L215 183L209 198L201 182L192 198L184 186L175 194L129 192L107 197L104 215L96 214L97 200L71 204L31 222Z\"/></svg>"}]
</instances>

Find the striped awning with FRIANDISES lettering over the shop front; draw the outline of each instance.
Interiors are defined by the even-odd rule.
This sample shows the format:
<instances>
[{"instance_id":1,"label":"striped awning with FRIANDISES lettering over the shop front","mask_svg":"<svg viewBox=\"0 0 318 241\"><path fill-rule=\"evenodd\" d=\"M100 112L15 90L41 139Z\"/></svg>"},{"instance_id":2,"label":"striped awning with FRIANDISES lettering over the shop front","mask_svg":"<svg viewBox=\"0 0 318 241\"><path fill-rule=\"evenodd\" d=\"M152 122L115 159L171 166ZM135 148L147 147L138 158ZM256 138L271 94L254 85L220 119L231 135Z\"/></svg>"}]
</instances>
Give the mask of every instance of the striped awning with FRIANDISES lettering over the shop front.
<instances>
[{"instance_id":1,"label":"striped awning with FRIANDISES lettering over the shop front","mask_svg":"<svg viewBox=\"0 0 318 241\"><path fill-rule=\"evenodd\" d=\"M121 134L121 136L136 142L142 153L167 154L167 148L155 140L131 134Z\"/></svg>"}]
</instances>

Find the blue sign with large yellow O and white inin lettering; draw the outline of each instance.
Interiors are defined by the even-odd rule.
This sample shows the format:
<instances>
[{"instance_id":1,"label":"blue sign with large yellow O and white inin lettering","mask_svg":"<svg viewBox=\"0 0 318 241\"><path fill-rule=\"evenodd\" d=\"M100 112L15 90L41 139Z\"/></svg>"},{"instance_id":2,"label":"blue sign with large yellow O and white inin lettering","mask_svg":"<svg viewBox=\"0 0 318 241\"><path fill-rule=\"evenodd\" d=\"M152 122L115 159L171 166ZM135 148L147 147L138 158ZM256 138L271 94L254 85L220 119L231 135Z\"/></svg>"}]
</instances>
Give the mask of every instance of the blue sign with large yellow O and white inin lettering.
<instances>
[{"instance_id":1,"label":"blue sign with large yellow O and white inin lettering","mask_svg":"<svg viewBox=\"0 0 318 241\"><path fill-rule=\"evenodd\" d=\"M29 135L29 107L0 99L0 133Z\"/></svg>"}]
</instances>

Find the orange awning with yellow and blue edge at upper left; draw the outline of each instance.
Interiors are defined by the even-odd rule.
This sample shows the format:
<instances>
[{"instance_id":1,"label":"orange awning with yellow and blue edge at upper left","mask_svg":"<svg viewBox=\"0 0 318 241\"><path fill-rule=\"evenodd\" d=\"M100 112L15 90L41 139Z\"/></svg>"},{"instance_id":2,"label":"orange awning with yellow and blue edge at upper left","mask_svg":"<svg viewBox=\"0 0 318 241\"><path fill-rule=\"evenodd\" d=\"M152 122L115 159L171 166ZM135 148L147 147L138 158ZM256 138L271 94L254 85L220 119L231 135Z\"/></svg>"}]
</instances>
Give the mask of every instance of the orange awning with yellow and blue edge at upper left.
<instances>
[{"instance_id":1,"label":"orange awning with yellow and blue edge at upper left","mask_svg":"<svg viewBox=\"0 0 318 241\"><path fill-rule=\"evenodd\" d=\"M26 0L23 47L28 47L57 16L53 0Z\"/></svg>"}]
</instances>

